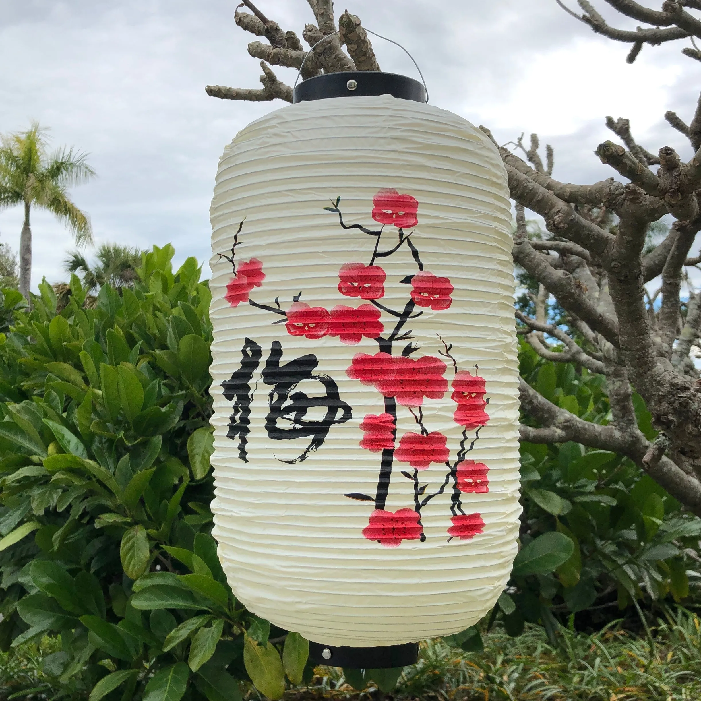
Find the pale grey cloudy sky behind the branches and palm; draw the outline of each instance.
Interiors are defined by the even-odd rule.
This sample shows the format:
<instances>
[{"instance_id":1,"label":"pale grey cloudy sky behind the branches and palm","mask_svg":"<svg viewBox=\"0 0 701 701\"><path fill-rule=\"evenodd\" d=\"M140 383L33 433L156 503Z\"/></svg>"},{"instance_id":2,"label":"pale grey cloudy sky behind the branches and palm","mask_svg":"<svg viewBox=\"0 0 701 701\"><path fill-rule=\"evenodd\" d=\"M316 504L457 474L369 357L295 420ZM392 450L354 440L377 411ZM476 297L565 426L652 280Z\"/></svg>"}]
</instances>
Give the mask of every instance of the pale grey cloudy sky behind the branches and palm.
<instances>
[{"instance_id":1,"label":"pale grey cloudy sky behind the branches and palm","mask_svg":"<svg viewBox=\"0 0 701 701\"><path fill-rule=\"evenodd\" d=\"M568 0L576 7L574 0ZM306 0L258 0L299 36L312 20ZM595 3L602 14L603 0ZM660 1L652 6L659 8ZM348 0L369 29L413 53L431 102L488 125L499 142L538 132L555 149L554 177L594 182L613 175L594 149L613 138L604 118L631 119L649 150L691 151L662 115L690 121L701 64L683 44L628 47L594 35L554 0ZM236 0L4 0L0 27L0 132L39 120L55 145L90 154L98 177L74 189L98 243L172 242L176 261L210 255L208 210L217 160L236 132L283 102L217 100L207 84L259 87L255 37L233 22ZM337 5L337 12L346 5ZM618 20L634 28L634 22ZM402 51L374 39L384 70L414 75ZM290 69L276 69L287 83ZM0 243L18 247L22 212L0 212ZM65 278L72 237L36 212L33 287Z\"/></svg>"}]
</instances>

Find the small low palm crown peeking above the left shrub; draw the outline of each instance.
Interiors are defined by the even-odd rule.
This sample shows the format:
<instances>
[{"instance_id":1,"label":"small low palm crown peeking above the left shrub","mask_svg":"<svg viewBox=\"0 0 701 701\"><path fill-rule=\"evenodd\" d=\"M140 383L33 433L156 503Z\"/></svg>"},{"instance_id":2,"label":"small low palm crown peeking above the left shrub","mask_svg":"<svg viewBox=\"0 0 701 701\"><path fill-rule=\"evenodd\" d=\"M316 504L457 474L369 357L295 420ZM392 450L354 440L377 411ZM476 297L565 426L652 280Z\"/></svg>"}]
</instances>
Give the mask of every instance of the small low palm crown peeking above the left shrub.
<instances>
[{"instance_id":1,"label":"small low palm crown peeking above the left shrub","mask_svg":"<svg viewBox=\"0 0 701 701\"><path fill-rule=\"evenodd\" d=\"M95 292L102 285L121 290L122 287L134 287L141 255L142 250L137 247L103 243L97 249L97 262L92 267L81 252L72 251L64 260L63 269L67 273L78 273L86 292Z\"/></svg>"}]
</instances>

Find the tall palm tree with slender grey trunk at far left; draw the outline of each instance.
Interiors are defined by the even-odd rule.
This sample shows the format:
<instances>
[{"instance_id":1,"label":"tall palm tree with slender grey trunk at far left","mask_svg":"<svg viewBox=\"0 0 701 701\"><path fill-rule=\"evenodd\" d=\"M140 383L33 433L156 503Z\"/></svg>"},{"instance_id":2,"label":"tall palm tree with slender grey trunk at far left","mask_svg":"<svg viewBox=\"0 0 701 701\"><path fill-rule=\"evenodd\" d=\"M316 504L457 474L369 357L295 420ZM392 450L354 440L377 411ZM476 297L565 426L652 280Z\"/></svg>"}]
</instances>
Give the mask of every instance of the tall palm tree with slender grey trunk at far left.
<instances>
[{"instance_id":1,"label":"tall palm tree with slender grey trunk at far left","mask_svg":"<svg viewBox=\"0 0 701 701\"><path fill-rule=\"evenodd\" d=\"M52 212L74 234L76 245L93 243L88 215L69 199L67 189L95 175L87 154L62 147L48 154L46 130L38 122L25 132L0 137L0 208L23 203L25 222L20 236L20 292L29 299L32 284L32 205Z\"/></svg>"}]
</instances>

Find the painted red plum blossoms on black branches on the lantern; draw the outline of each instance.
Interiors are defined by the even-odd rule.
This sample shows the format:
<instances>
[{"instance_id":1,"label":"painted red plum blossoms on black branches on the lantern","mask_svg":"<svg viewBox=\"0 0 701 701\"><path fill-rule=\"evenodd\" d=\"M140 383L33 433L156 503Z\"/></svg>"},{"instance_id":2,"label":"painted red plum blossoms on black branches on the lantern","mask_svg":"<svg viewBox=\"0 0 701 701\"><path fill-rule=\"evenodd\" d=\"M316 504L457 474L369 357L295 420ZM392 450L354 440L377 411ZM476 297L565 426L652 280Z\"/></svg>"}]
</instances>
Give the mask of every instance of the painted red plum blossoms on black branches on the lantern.
<instances>
[{"instance_id":1,"label":"painted red plum blossoms on black branches on the lantern","mask_svg":"<svg viewBox=\"0 0 701 701\"><path fill-rule=\"evenodd\" d=\"M358 230L375 238L374 252L369 264L349 262L339 269L338 292L348 299L348 304L312 306L294 297L292 304L283 310L250 299L254 287L261 287L265 274L263 264L256 258L234 264L234 248L238 245L238 233L231 257L234 277L226 285L225 299L233 307L242 302L281 315L285 330L290 336L303 336L317 341L325 336L337 337L341 343L357 345L363 339L377 343L375 353L356 353L346 369L349 378L366 386L372 386L383 398L383 411L366 414L360 423L363 437L360 447L380 455L380 470L375 496L347 494L360 501L372 501L374 510L369 516L368 526L362 535L386 547L396 547L403 540L426 540L421 522L421 509L433 498L444 494L451 484L451 526L447 529L448 540L469 540L484 529L479 513L465 513L461 495L484 494L489 491L489 468L484 463L465 459L475 446L479 430L489 421L486 408L486 383L478 374L458 369L451 355L451 345L443 341L445 352L438 351L452 361L454 377L450 381L451 400L455 402L454 422L463 427L463 437L456 458L451 459L448 438L444 433L426 428L423 408L432 400L442 400L449 392L449 379L445 376L448 365L435 355L413 354L419 349L407 344L400 353L395 344L411 341L411 329L405 330L411 319L424 311L440 312L452 304L454 286L449 278L440 277L423 268L421 254L411 234L407 231L418 224L418 200L395 189L381 189L373 198L372 219L381 225L379 230L367 229L361 224L346 224L339 208L341 198L332 201L332 207L324 207L339 217L344 231ZM243 222L242 222L243 225ZM390 227L390 229L386 229ZM393 227L393 229L391 228ZM396 230L397 243L392 231ZM386 243L389 240L389 243ZM383 243L385 245L383 246ZM378 264L382 258L408 249L418 271L406 275L400 283L409 285L408 299L404 308L394 310L380 301L385 297L387 274ZM355 301L353 301L353 299ZM275 300L277 304L277 299ZM386 329L388 318L393 326ZM438 336L441 341L442 338ZM414 418L417 430L404 433L397 440L397 409L408 411ZM468 431L475 430L475 437L468 447ZM414 485L413 508L400 508L393 512L386 509L390 489L393 463L407 467L402 475ZM420 486L418 473L426 472L431 465L444 465L447 473L436 491L430 492L428 484ZM445 472L445 470L443 470Z\"/></svg>"}]
</instances>

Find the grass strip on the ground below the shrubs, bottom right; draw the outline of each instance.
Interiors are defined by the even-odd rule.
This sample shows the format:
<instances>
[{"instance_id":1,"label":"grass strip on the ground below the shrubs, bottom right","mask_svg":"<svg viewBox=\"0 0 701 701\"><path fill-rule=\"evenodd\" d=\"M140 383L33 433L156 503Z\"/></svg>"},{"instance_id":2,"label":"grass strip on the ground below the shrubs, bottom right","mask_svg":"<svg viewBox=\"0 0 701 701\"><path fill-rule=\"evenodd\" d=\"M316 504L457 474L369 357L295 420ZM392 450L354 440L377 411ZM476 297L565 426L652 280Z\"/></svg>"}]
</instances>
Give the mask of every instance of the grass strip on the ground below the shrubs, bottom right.
<instances>
[{"instance_id":1,"label":"grass strip on the ground below the shrubs, bottom right","mask_svg":"<svg viewBox=\"0 0 701 701\"><path fill-rule=\"evenodd\" d=\"M561 629L551 646L542 628L519 638L496 629L483 653L462 653L442 642L422 644L421 658L404 669L395 698L447 701L696 701L701 698L701 621L682 608L669 613L647 637L615 624L594 635ZM320 667L315 695L376 699L341 670ZM310 689L312 691L312 689Z\"/></svg>"}]
</instances>

